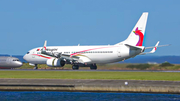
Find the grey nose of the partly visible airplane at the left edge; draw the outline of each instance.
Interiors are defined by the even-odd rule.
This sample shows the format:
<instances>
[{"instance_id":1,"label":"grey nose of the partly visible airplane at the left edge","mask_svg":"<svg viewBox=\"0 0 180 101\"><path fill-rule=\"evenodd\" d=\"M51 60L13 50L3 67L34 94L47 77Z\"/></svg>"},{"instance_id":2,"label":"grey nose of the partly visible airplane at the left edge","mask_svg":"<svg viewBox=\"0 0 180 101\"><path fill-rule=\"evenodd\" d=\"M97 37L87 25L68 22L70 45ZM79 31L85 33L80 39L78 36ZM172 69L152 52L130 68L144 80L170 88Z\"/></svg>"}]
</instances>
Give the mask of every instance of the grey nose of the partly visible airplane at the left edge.
<instances>
[{"instance_id":1,"label":"grey nose of the partly visible airplane at the left edge","mask_svg":"<svg viewBox=\"0 0 180 101\"><path fill-rule=\"evenodd\" d=\"M0 56L0 69L21 67L22 62L16 57Z\"/></svg>"}]
</instances>

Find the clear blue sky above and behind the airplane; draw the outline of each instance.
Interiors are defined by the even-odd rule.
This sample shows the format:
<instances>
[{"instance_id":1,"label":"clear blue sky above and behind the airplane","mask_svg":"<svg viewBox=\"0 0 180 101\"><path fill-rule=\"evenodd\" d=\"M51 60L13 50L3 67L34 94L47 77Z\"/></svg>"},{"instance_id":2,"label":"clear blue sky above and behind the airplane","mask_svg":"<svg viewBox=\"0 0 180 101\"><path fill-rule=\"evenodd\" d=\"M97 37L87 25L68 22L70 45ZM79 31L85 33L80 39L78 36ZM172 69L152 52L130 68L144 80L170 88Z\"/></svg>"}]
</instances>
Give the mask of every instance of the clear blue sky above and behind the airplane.
<instances>
[{"instance_id":1,"label":"clear blue sky above and behind the airplane","mask_svg":"<svg viewBox=\"0 0 180 101\"><path fill-rule=\"evenodd\" d=\"M180 0L1 0L0 53L24 55L47 45L107 45L125 40L149 12L145 46L180 55Z\"/></svg>"}]
</instances>

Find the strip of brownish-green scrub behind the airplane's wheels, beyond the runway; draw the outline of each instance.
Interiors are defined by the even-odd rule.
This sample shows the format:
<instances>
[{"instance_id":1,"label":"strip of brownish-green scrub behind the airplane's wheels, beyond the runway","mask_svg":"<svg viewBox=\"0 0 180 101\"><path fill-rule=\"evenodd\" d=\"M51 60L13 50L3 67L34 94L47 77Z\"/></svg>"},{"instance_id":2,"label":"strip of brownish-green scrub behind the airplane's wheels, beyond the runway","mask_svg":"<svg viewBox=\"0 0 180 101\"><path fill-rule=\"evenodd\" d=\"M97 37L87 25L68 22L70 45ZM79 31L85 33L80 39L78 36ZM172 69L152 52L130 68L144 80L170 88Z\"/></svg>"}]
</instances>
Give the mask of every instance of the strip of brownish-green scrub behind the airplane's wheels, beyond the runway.
<instances>
[{"instance_id":1,"label":"strip of brownish-green scrub behind the airplane's wheels, beyond the runway","mask_svg":"<svg viewBox=\"0 0 180 101\"><path fill-rule=\"evenodd\" d=\"M16 69L33 69L34 66L30 66L28 63L23 63L23 66ZM65 65L64 67L48 67L46 64L38 65L39 69L72 69L72 65ZM89 67L80 67L79 69L87 69ZM170 64L168 62L162 64L106 64L98 65L99 70L180 70L179 64Z\"/></svg>"}]
</instances>

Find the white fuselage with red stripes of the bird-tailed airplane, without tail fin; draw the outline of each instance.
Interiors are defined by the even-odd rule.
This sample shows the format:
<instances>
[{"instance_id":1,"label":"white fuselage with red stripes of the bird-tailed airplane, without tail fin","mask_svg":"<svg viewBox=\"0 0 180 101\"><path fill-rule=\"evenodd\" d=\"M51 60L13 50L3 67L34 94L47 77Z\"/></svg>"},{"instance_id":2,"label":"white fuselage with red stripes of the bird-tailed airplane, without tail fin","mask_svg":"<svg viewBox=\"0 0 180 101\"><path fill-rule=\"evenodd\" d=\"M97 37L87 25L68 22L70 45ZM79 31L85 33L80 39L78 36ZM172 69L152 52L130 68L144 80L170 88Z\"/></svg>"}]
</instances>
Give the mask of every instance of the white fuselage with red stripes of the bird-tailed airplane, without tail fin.
<instances>
[{"instance_id":1,"label":"white fuselage with red stripes of the bird-tailed airplane, without tail fin","mask_svg":"<svg viewBox=\"0 0 180 101\"><path fill-rule=\"evenodd\" d=\"M24 59L33 64L46 64L47 59L54 57L41 54L42 47L30 50ZM71 56L77 56L84 63L113 63L128 59L141 53L141 50L130 50L125 45L104 45L104 46L49 46L48 52L58 52Z\"/></svg>"}]
</instances>

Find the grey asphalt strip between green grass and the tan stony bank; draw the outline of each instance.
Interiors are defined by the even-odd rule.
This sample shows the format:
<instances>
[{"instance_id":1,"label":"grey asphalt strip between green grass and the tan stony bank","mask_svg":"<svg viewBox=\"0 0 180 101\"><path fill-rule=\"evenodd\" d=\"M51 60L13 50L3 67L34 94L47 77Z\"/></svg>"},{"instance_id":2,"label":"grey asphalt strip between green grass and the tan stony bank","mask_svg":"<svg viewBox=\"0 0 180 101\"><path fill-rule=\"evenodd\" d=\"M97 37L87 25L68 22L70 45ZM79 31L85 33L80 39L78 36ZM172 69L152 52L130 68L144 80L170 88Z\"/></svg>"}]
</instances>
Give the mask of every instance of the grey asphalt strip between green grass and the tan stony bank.
<instances>
[{"instance_id":1,"label":"grey asphalt strip between green grass and the tan stony bank","mask_svg":"<svg viewBox=\"0 0 180 101\"><path fill-rule=\"evenodd\" d=\"M126 83L126 84L125 84ZM138 86L138 87L178 87L180 81L145 80L69 80L69 79L0 79L0 86Z\"/></svg>"}]
</instances>

